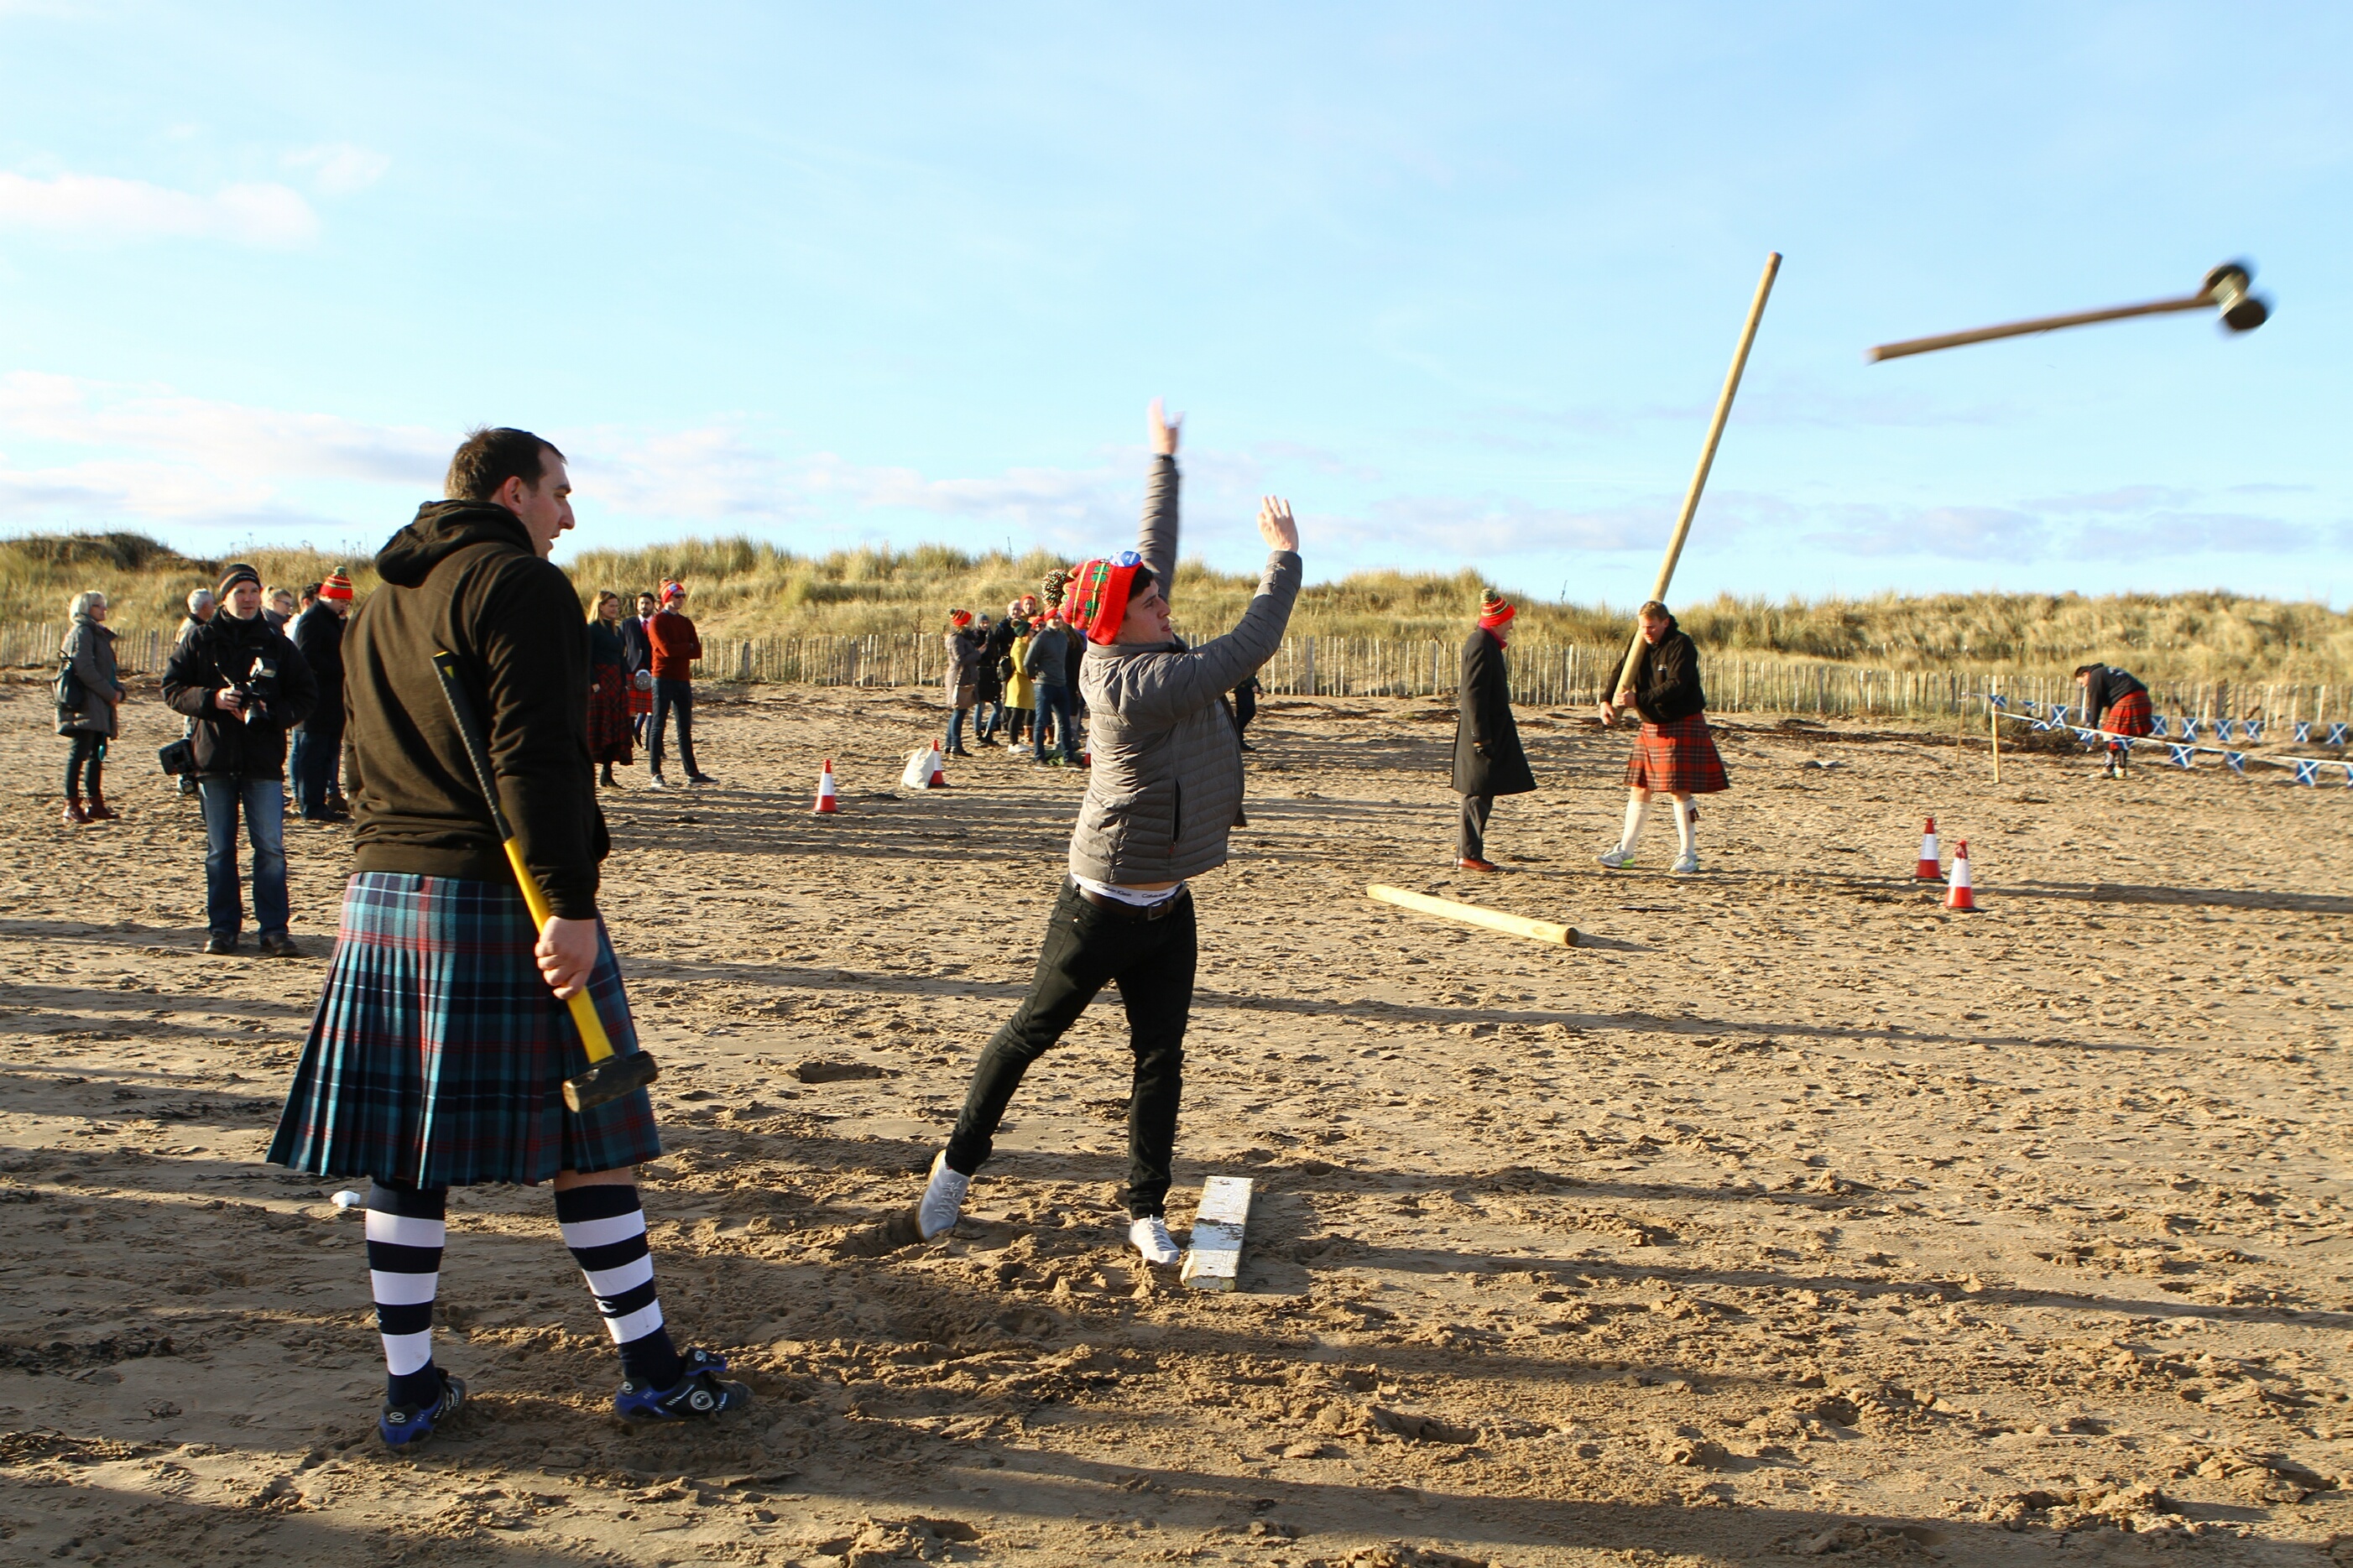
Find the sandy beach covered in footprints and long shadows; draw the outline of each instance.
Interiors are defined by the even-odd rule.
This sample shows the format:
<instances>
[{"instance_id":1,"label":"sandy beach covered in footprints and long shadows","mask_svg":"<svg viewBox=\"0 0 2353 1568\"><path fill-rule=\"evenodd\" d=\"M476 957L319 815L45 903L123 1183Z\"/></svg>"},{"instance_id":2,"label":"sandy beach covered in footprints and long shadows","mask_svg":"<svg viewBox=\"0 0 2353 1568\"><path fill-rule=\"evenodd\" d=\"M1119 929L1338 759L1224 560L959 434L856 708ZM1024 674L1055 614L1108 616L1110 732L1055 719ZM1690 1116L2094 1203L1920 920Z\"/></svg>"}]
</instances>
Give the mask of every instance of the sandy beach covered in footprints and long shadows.
<instances>
[{"instance_id":1,"label":"sandy beach covered in footprints and long shadows","mask_svg":"<svg viewBox=\"0 0 2353 1568\"><path fill-rule=\"evenodd\" d=\"M548 1194L471 1190L438 1352L475 1401L393 1455L360 1222L259 1164L348 832L287 827L311 957L207 959L176 717L136 691L87 830L49 717L0 693L0 1561L2353 1563L2344 788L1995 788L1951 733L1732 715L1706 872L1654 823L1612 875L1626 738L1522 710L1541 792L1464 877L1449 708L1271 701L1198 884L1172 1227L1257 1180L1212 1295L1122 1246L1108 999L965 1225L889 1227L1082 776L911 792L932 693L711 691L722 783L626 773L605 910L664 1305L760 1403L624 1432ZM1977 914L1911 877L1929 811Z\"/></svg>"}]
</instances>

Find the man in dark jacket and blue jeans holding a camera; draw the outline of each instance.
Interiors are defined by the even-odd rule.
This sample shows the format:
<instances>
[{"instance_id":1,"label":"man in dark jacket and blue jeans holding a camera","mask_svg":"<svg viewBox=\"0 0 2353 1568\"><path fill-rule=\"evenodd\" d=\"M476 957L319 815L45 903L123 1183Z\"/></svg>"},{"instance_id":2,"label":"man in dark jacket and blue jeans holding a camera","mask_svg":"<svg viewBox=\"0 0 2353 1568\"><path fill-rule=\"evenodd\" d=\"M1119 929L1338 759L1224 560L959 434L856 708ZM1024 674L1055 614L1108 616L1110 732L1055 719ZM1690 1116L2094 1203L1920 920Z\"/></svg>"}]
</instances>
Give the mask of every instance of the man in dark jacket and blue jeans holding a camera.
<instances>
[{"instance_id":1,"label":"man in dark jacket and blue jeans holding a camera","mask_svg":"<svg viewBox=\"0 0 2353 1568\"><path fill-rule=\"evenodd\" d=\"M261 614L261 574L233 562L219 611L172 654L162 701L195 719L195 785L205 797L205 952L235 952L245 924L238 816L254 846L261 952L294 957L287 931L287 731L318 708L311 665Z\"/></svg>"}]
</instances>

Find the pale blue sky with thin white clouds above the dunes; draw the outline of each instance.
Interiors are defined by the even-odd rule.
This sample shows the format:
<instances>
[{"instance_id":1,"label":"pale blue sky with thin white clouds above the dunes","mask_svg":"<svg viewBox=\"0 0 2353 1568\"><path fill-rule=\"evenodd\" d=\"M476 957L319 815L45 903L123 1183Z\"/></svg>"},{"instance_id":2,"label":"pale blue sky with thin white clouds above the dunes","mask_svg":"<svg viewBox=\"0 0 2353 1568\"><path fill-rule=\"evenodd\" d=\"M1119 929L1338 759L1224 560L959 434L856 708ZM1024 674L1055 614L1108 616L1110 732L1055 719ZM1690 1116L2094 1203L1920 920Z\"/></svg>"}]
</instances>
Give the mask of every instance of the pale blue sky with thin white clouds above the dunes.
<instances>
[{"instance_id":1,"label":"pale blue sky with thin white clouds above the dunes","mask_svg":"<svg viewBox=\"0 0 2353 1568\"><path fill-rule=\"evenodd\" d=\"M1129 543L1673 599L2353 602L2353 9L0 0L0 536ZM2273 320L1864 348L2193 292Z\"/></svg>"}]
</instances>

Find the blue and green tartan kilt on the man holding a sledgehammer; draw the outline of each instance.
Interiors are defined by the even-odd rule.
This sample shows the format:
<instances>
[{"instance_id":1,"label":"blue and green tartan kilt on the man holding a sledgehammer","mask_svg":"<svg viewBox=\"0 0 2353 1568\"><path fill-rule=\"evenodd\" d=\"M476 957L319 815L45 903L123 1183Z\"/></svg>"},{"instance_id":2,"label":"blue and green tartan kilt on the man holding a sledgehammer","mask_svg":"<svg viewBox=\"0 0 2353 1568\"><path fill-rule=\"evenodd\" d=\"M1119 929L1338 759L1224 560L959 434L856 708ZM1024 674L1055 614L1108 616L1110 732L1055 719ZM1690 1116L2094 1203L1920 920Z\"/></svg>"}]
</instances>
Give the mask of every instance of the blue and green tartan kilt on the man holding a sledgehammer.
<instances>
[{"instance_id":1,"label":"blue and green tartan kilt on the man holding a sledgehammer","mask_svg":"<svg viewBox=\"0 0 2353 1568\"><path fill-rule=\"evenodd\" d=\"M661 1154L642 1088L586 1112L565 1105L565 1079L588 1067L588 1053L534 945L511 884L353 877L271 1164L471 1187ZM602 929L598 947L588 997L612 1048L628 1056L638 1030Z\"/></svg>"}]
</instances>

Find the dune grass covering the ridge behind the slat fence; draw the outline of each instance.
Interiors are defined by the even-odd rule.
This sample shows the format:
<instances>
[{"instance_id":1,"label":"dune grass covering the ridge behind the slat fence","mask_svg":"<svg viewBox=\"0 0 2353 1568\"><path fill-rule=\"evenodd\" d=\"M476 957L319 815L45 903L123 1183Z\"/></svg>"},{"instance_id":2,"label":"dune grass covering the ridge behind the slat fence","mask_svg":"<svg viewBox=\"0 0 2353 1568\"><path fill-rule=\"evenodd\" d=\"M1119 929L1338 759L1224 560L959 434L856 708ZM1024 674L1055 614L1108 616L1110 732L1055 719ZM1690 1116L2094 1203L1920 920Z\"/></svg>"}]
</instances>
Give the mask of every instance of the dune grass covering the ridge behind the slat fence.
<instances>
[{"instance_id":1,"label":"dune grass covering the ridge behind the slat fence","mask_svg":"<svg viewBox=\"0 0 2353 1568\"><path fill-rule=\"evenodd\" d=\"M346 567L374 588L365 559L318 550L256 550L271 585L313 583ZM666 576L692 590L692 614L725 637L868 635L941 630L948 609L1005 614L1066 564L1059 555L951 545L795 555L751 538L689 538L645 550L584 550L567 562L584 604L598 588L635 592ZM66 602L101 588L115 625L176 625L191 588L209 588L221 562L191 559L139 534L0 541L0 623L64 621ZM1475 571L1358 571L1308 588L1292 630L1318 637L1461 637L1478 614ZM1231 625L1257 578L1186 564L1172 595L1193 632ZM1631 607L1555 604L1518 595L1515 635L1532 642L1609 644ZM1894 670L2071 668L2106 658L2153 679L2353 679L2353 616L2325 604L2257 599L2224 590L2174 595L1873 595L1765 599L1720 595L1675 607L1704 649L1753 658L1821 658Z\"/></svg>"}]
</instances>

